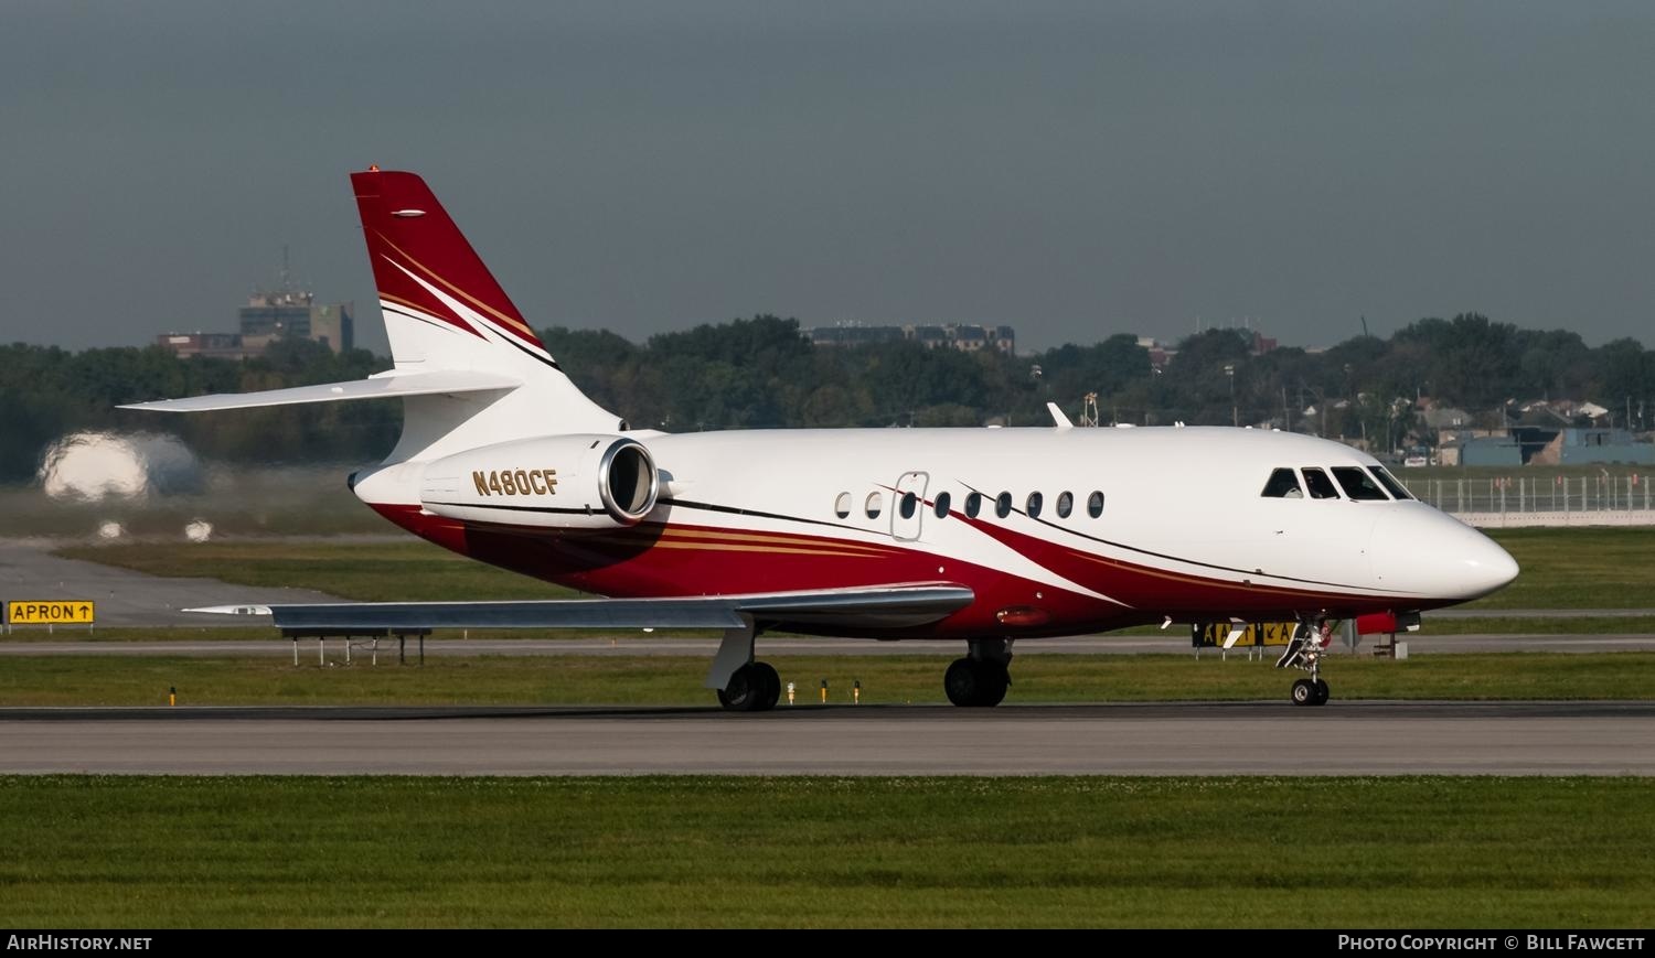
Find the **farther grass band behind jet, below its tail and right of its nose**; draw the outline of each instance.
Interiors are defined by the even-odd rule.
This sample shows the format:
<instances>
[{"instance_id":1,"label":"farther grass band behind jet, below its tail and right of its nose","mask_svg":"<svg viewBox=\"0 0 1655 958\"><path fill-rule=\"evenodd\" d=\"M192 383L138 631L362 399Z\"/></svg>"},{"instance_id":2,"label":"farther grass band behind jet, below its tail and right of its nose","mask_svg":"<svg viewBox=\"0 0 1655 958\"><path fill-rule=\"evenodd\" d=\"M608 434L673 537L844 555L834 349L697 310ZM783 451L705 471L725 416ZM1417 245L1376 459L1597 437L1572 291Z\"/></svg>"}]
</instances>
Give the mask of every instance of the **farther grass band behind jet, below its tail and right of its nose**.
<instances>
[{"instance_id":1,"label":"farther grass band behind jet, below its tail and right of its nose","mask_svg":"<svg viewBox=\"0 0 1655 958\"><path fill-rule=\"evenodd\" d=\"M1655 606L1655 528L1493 529L1523 574L1476 609ZM506 572L420 539L243 539L68 546L58 554L156 576L319 589L346 599L548 599L568 589ZM1531 627L1518 630L1536 630ZM1569 629L1547 629L1569 630ZM1627 630L1627 629L1615 629Z\"/></svg>"}]
</instances>

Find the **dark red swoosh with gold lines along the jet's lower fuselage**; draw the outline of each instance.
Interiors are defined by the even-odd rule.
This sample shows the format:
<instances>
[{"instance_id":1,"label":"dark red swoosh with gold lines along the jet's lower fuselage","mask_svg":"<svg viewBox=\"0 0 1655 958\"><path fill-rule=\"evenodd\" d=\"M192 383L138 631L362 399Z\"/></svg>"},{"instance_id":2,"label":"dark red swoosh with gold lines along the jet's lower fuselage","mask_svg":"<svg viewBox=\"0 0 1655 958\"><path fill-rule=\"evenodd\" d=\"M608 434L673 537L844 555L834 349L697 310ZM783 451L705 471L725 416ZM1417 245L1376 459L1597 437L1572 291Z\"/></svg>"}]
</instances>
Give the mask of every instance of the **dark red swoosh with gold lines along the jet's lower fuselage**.
<instances>
[{"instance_id":1,"label":"dark red swoosh with gold lines along the jet's lower fuselage","mask_svg":"<svg viewBox=\"0 0 1655 958\"><path fill-rule=\"evenodd\" d=\"M1077 553L1056 543L970 521L985 534L1087 589L1125 606L940 556L920 543L884 544L813 533L768 533L718 526L644 523L627 529L551 531L468 525L419 506L376 505L392 523L439 546L561 586L616 597L720 596L804 589L851 589L892 582L948 581L976 601L933 625L880 632L890 637L1076 635L1175 619L1293 617L1321 609L1341 616L1382 611L1394 599L1243 586L1180 576ZM1039 609L1049 620L1006 627L1001 609ZM839 634L854 630L834 629Z\"/></svg>"}]
</instances>

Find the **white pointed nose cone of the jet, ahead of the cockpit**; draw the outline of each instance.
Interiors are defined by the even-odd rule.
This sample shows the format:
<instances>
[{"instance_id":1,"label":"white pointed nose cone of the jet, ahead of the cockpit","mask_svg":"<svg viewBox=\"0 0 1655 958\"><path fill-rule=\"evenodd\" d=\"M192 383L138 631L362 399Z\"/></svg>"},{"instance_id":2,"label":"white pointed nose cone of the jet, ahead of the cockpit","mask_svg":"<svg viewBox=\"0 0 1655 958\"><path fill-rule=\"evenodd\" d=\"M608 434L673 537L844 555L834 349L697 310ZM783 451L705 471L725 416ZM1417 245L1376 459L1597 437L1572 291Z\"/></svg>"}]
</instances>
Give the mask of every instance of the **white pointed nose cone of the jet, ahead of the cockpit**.
<instances>
[{"instance_id":1,"label":"white pointed nose cone of the jet, ahead of the cockpit","mask_svg":"<svg viewBox=\"0 0 1655 958\"><path fill-rule=\"evenodd\" d=\"M1430 506L1374 528L1374 572L1380 586L1425 599L1468 602L1508 586L1518 563L1483 533Z\"/></svg>"}]
</instances>

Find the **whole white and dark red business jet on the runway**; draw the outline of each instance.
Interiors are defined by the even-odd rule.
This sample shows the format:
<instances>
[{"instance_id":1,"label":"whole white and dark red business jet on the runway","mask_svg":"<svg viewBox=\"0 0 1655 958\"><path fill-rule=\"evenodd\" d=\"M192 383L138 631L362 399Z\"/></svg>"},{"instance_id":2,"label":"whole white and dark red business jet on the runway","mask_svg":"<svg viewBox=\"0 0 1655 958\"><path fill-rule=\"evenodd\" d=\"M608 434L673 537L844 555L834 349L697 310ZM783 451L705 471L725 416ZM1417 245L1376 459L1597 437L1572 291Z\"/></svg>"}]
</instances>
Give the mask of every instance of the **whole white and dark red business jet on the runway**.
<instances>
[{"instance_id":1,"label":"whole white and dark red business jet on the runway","mask_svg":"<svg viewBox=\"0 0 1655 958\"><path fill-rule=\"evenodd\" d=\"M288 634L723 629L707 685L761 711L781 692L753 655L765 630L962 642L948 698L990 707L1016 642L1293 620L1278 665L1321 705L1322 624L1395 632L1518 574L1372 457L1306 435L1071 429L1056 407L1044 429L632 429L576 389L420 177L351 184L394 369L131 409L401 399L396 448L351 477L364 503L602 597L257 607Z\"/></svg>"}]
</instances>

